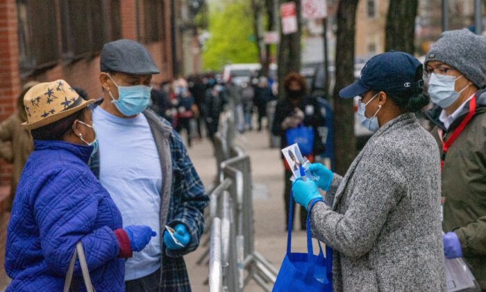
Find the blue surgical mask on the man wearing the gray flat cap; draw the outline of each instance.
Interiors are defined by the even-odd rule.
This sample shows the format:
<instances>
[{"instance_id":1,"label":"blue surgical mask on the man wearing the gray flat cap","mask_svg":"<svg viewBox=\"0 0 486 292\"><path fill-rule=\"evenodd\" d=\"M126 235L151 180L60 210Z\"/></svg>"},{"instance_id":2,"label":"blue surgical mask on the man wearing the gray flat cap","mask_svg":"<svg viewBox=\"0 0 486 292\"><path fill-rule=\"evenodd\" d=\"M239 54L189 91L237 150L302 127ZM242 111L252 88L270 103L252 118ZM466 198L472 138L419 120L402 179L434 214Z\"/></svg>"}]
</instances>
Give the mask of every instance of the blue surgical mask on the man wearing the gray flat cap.
<instances>
[{"instance_id":1,"label":"blue surgical mask on the man wearing the gray flat cap","mask_svg":"<svg viewBox=\"0 0 486 292\"><path fill-rule=\"evenodd\" d=\"M149 106L150 102L150 91L152 90L149 86L119 86L115 80L110 77L111 81L115 83L118 88L118 100L113 97L110 91L110 97L112 103L118 108L118 111L127 117L132 115L138 115Z\"/></svg>"}]
</instances>

